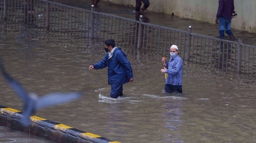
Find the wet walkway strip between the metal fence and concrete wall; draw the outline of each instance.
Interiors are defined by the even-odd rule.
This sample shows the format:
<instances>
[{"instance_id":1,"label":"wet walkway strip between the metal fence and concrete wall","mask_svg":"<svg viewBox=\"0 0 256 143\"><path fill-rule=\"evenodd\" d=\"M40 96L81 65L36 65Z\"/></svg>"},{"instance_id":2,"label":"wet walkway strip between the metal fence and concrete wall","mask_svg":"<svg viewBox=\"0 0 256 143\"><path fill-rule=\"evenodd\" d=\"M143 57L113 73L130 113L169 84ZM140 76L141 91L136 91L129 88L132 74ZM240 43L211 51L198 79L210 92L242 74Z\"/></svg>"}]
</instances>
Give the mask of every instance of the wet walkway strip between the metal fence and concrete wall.
<instances>
[{"instance_id":1,"label":"wet walkway strip between the metal fence and concrete wall","mask_svg":"<svg viewBox=\"0 0 256 143\"><path fill-rule=\"evenodd\" d=\"M76 8L83 8L88 10L91 9L90 1L88 0L76 0L76 1L54 0L54 2L63 3L65 5L74 6ZM115 16L121 16L121 17L126 17L128 19L135 20L134 9L135 8L131 6L123 6L123 5L118 5L111 2L100 1L98 3L97 8L95 8L94 10L96 12L113 14ZM194 32L195 34L207 35L207 36L212 36L216 38L219 37L219 27L217 24L185 19L183 17L178 17L175 15L172 16L170 14L150 12L147 10L144 13L144 17L147 17L147 19L149 20L149 23L151 24L162 25L164 27L175 28L177 30L183 30L183 31L187 31L189 28L189 25L191 25L192 32ZM212 21L215 22L215 19L212 19ZM235 24L235 23L232 23L232 24ZM250 32L240 31L235 29L232 29L232 32L236 39L242 39L243 43L246 43L247 45L256 46L255 33L250 33ZM225 35L225 36L226 36L225 37L226 39L229 39L228 35Z\"/></svg>"}]
</instances>

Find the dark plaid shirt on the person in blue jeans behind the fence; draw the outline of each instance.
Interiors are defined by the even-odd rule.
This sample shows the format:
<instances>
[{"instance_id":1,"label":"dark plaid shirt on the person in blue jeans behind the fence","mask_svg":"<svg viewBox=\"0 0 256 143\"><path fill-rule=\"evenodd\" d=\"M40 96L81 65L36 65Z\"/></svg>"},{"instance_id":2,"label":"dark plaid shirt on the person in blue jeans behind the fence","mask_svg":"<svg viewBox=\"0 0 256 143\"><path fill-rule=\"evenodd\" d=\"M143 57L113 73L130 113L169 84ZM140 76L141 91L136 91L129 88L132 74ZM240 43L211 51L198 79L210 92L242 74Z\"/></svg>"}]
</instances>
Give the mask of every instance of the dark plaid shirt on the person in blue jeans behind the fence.
<instances>
[{"instance_id":1,"label":"dark plaid shirt on the person in blue jeans behind the fence","mask_svg":"<svg viewBox=\"0 0 256 143\"><path fill-rule=\"evenodd\" d=\"M219 0L219 7L216 17L231 19L234 12L234 0Z\"/></svg>"}]
</instances>

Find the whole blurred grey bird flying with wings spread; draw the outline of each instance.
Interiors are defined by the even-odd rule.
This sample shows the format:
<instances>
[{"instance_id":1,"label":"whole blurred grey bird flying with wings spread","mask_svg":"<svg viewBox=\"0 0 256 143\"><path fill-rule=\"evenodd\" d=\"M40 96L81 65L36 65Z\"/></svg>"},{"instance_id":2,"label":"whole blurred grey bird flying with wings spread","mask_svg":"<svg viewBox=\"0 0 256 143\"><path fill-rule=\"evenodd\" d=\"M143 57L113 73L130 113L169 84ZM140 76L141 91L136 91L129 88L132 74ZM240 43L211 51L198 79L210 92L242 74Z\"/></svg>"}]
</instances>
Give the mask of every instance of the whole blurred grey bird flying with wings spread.
<instances>
[{"instance_id":1,"label":"whole blurred grey bird flying with wings spread","mask_svg":"<svg viewBox=\"0 0 256 143\"><path fill-rule=\"evenodd\" d=\"M12 87L12 89L16 92L17 96L22 98L24 102L23 108L23 118L21 119L21 123L23 126L30 125L30 116L38 109L51 107L57 104L63 104L65 102L70 102L80 98L81 94L78 92L71 93L49 93L45 96L38 97L35 93L27 93L27 91L22 87L22 85L13 79L3 67L3 60L0 59L0 69L2 71L2 75L5 78L6 82Z\"/></svg>"}]
</instances>

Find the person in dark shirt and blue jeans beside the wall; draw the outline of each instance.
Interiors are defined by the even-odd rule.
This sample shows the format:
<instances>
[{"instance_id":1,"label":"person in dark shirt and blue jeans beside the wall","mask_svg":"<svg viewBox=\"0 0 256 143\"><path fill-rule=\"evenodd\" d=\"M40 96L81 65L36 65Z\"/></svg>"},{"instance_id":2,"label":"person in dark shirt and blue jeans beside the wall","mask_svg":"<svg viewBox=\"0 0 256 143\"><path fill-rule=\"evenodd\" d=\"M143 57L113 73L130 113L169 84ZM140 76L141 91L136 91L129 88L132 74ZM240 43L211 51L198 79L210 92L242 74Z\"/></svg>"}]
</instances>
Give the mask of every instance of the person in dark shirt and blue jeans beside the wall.
<instances>
[{"instance_id":1,"label":"person in dark shirt and blue jeans beside the wall","mask_svg":"<svg viewBox=\"0 0 256 143\"><path fill-rule=\"evenodd\" d=\"M231 39L234 39L234 35L231 31L231 19L233 12L234 0L219 0L215 23L219 24L219 35L221 39L225 38L225 29L226 34L229 35Z\"/></svg>"}]
</instances>

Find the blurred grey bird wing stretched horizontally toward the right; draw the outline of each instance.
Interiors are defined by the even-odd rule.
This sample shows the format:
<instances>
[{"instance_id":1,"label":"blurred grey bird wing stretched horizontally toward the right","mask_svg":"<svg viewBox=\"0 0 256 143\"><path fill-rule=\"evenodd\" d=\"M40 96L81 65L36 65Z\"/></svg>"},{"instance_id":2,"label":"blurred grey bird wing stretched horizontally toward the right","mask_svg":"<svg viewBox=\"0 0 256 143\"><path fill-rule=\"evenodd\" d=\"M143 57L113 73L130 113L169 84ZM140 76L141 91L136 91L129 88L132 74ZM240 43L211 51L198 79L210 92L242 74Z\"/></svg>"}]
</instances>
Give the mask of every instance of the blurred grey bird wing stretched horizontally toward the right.
<instances>
[{"instance_id":1,"label":"blurred grey bird wing stretched horizontally toward the right","mask_svg":"<svg viewBox=\"0 0 256 143\"><path fill-rule=\"evenodd\" d=\"M76 100L80 96L80 93L50 93L45 96L38 97L35 109L51 107L53 105L70 102Z\"/></svg>"}]
</instances>

